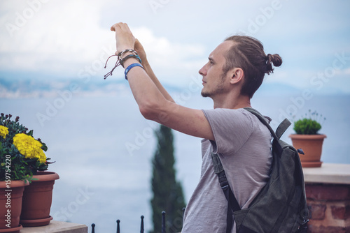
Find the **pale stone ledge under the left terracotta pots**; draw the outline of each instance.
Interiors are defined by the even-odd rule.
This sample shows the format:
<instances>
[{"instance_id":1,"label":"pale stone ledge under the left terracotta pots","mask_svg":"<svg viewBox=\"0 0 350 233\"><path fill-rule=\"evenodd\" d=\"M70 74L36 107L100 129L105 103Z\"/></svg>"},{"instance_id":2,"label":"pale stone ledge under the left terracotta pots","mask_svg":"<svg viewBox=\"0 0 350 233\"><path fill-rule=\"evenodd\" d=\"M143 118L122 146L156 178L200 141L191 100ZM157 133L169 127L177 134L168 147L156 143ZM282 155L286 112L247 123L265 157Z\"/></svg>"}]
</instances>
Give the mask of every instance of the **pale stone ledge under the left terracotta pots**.
<instances>
[{"instance_id":1,"label":"pale stone ledge under the left terracotta pots","mask_svg":"<svg viewBox=\"0 0 350 233\"><path fill-rule=\"evenodd\" d=\"M78 223L65 223L51 220L49 225L42 227L23 227L20 233L87 233L87 226Z\"/></svg>"}]
</instances>

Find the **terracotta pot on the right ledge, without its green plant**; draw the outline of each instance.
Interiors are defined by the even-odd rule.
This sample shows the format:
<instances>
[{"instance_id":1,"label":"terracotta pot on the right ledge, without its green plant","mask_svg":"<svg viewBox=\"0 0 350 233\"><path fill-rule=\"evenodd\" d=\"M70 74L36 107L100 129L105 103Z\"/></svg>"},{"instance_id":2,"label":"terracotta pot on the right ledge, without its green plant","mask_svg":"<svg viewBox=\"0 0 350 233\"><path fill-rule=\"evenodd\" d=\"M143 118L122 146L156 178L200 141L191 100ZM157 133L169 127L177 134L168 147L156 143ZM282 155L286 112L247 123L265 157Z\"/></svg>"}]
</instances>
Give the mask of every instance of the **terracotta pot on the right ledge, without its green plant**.
<instances>
[{"instance_id":1,"label":"terracotta pot on the right ledge, without its green plant","mask_svg":"<svg viewBox=\"0 0 350 233\"><path fill-rule=\"evenodd\" d=\"M299 153L302 167L321 167L321 154L325 135L289 135L295 149L302 149Z\"/></svg>"}]
</instances>

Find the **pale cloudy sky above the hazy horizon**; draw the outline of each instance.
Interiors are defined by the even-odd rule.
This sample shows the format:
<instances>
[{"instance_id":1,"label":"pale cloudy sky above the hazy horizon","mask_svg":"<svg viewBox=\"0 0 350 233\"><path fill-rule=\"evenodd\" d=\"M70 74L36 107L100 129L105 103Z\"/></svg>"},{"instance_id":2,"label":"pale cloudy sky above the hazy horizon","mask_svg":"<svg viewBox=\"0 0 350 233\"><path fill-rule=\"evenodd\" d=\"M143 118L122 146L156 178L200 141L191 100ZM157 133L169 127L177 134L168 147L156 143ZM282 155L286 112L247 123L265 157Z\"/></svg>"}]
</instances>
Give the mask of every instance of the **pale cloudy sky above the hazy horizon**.
<instances>
[{"instance_id":1,"label":"pale cloudy sky above the hazy horizon","mask_svg":"<svg viewBox=\"0 0 350 233\"><path fill-rule=\"evenodd\" d=\"M0 81L102 83L116 61L104 69L116 50L110 27L126 22L165 85L188 86L219 43L244 34L283 59L265 83L350 93L349 1L6 0L0 9ZM108 82L121 80L118 68Z\"/></svg>"}]
</instances>

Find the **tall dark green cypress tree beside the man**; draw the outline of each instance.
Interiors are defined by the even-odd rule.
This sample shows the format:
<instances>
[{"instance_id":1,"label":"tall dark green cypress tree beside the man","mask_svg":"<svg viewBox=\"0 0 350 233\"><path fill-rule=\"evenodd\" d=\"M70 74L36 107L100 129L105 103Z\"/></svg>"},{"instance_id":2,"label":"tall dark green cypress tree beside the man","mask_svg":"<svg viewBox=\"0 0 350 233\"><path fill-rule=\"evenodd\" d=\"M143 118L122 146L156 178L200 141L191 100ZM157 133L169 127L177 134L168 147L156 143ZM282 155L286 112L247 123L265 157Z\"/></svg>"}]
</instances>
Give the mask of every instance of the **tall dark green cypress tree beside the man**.
<instances>
[{"instance_id":1,"label":"tall dark green cypress tree beside the man","mask_svg":"<svg viewBox=\"0 0 350 233\"><path fill-rule=\"evenodd\" d=\"M162 211L166 212L167 233L181 232L182 209L186 204L181 183L176 181L172 129L160 125L155 135L158 147L152 160L153 233L162 232Z\"/></svg>"}]
</instances>

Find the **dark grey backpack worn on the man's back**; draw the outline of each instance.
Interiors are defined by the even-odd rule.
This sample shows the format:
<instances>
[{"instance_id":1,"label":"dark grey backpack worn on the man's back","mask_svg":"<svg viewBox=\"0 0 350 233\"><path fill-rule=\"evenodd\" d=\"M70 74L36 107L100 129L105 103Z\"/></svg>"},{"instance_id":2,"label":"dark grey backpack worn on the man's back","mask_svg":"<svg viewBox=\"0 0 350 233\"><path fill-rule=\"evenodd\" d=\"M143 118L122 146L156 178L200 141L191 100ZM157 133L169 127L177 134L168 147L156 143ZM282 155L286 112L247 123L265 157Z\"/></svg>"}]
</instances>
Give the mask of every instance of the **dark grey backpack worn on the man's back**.
<instances>
[{"instance_id":1,"label":"dark grey backpack worn on the man's back","mask_svg":"<svg viewBox=\"0 0 350 233\"><path fill-rule=\"evenodd\" d=\"M290 121L284 119L275 133L258 111L251 107L244 109L258 117L269 128L273 137L272 165L266 185L247 209L241 209L228 185L220 158L217 154L211 154L214 172L218 175L228 200L226 232L232 230L232 213L235 216L237 233L306 232L309 211L299 150L280 140L281 135L290 126Z\"/></svg>"}]
</instances>

